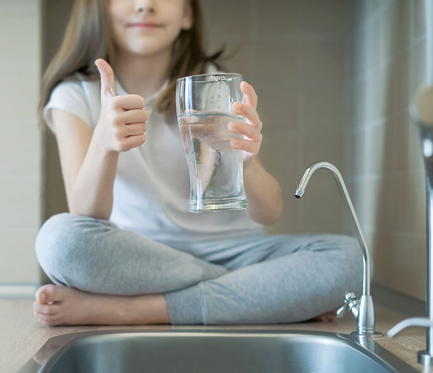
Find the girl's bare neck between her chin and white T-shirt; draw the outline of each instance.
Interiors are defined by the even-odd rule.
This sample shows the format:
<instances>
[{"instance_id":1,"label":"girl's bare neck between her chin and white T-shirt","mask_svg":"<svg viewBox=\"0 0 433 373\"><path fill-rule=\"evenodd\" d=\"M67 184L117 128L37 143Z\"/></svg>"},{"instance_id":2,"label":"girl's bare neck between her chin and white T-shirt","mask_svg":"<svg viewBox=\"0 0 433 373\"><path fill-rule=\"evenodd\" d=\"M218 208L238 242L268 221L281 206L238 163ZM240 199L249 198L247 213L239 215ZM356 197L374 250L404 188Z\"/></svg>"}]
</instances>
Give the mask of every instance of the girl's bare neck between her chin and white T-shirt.
<instances>
[{"instance_id":1,"label":"girl's bare neck between her chin and white T-shirt","mask_svg":"<svg viewBox=\"0 0 433 373\"><path fill-rule=\"evenodd\" d=\"M164 84L170 61L171 49L152 56L139 56L122 51L117 55L113 70L128 94L140 95L146 99Z\"/></svg>"}]
</instances>

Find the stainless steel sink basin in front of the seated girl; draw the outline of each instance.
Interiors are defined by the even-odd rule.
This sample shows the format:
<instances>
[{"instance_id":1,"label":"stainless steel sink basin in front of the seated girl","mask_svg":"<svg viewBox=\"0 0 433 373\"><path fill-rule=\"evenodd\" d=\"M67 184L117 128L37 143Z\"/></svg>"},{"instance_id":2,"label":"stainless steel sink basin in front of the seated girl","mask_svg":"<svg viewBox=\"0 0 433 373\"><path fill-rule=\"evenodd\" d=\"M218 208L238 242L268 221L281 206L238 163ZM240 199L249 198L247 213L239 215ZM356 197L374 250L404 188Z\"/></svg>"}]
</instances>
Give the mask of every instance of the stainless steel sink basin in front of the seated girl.
<instances>
[{"instance_id":1,"label":"stainless steel sink basin in front of the seated girl","mask_svg":"<svg viewBox=\"0 0 433 373\"><path fill-rule=\"evenodd\" d=\"M417 370L372 339L348 334L268 329L128 329L51 338L19 373L36 372L412 373Z\"/></svg>"}]
</instances>

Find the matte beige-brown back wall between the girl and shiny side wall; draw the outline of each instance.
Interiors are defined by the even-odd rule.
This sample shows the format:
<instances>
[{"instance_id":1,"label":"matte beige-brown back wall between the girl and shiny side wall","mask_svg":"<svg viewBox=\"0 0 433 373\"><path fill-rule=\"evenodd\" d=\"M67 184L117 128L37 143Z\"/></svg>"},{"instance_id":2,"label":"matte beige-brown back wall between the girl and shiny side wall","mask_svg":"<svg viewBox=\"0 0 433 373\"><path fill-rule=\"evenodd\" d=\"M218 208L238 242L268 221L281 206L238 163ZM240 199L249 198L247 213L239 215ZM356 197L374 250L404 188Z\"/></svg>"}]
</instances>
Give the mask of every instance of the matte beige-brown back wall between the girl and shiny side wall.
<instances>
[{"instance_id":1,"label":"matte beige-brown back wall between the girl and shiny side wall","mask_svg":"<svg viewBox=\"0 0 433 373\"><path fill-rule=\"evenodd\" d=\"M284 196L282 218L267 228L269 234L344 232L346 213L330 173L317 171L301 199L294 193L315 161L331 162L344 176L346 35L353 2L202 4L209 51L223 44L228 51L238 49L226 66L242 73L257 92L263 122L259 158Z\"/></svg>"}]
</instances>

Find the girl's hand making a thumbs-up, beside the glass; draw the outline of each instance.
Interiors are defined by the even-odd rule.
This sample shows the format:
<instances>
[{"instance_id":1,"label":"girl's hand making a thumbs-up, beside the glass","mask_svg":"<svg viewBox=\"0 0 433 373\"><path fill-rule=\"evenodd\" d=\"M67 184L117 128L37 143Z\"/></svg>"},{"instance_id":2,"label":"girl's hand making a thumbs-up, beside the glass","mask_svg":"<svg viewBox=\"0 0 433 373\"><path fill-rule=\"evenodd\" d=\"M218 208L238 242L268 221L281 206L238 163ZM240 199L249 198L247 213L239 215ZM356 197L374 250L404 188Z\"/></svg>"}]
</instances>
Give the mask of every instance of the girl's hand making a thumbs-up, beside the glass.
<instances>
[{"instance_id":1,"label":"girl's hand making a thumbs-up, beside the glass","mask_svg":"<svg viewBox=\"0 0 433 373\"><path fill-rule=\"evenodd\" d=\"M114 74L103 59L95 61L101 74L101 115L93 136L107 152L126 152L145 143L148 112L138 95L116 96Z\"/></svg>"}]
</instances>

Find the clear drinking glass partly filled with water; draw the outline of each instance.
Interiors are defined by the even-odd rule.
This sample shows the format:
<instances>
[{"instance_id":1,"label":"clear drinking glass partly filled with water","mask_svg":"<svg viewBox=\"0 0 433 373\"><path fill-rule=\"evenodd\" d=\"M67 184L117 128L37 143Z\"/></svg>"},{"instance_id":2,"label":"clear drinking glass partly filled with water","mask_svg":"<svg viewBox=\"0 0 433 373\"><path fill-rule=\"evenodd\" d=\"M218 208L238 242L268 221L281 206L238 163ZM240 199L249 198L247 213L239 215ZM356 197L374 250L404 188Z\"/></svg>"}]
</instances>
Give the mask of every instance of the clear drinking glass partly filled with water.
<instances>
[{"instance_id":1,"label":"clear drinking glass partly filled with water","mask_svg":"<svg viewBox=\"0 0 433 373\"><path fill-rule=\"evenodd\" d=\"M176 111L189 169L188 211L235 210L248 207L244 190L243 151L230 139L243 138L228 123L245 122L232 111L242 102L240 74L205 74L176 82Z\"/></svg>"}]
</instances>

